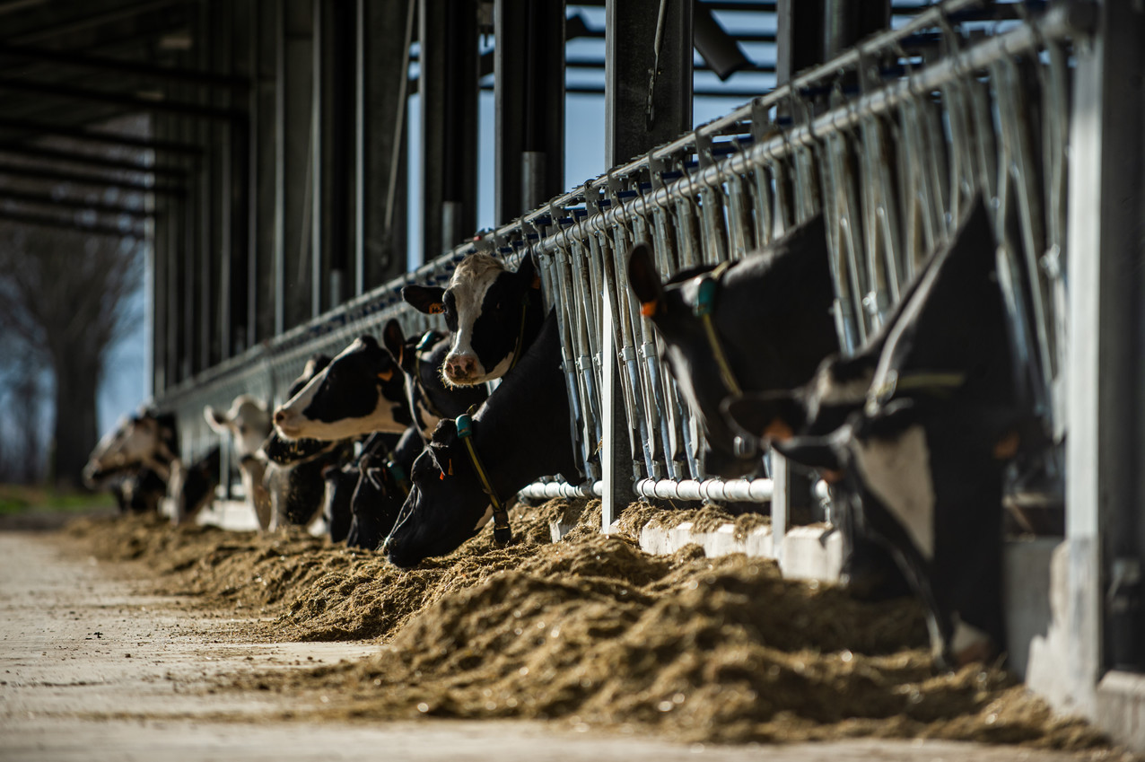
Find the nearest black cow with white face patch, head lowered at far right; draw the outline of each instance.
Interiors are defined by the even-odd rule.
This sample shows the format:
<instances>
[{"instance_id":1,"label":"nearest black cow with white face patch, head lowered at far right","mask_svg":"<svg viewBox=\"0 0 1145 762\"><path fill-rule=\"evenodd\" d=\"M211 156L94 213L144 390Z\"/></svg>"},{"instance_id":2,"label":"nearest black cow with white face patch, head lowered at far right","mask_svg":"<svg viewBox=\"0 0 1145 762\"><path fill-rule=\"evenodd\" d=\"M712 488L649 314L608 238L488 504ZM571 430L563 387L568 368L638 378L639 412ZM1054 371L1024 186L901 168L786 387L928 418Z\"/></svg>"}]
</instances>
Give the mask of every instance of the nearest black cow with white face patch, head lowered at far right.
<instances>
[{"instance_id":1,"label":"nearest black cow with white face patch, head lowered at far right","mask_svg":"<svg viewBox=\"0 0 1145 762\"><path fill-rule=\"evenodd\" d=\"M870 386L837 430L775 435L788 422L776 424L774 400L726 406L748 432L834 482L836 503L890 549L922 598L935 657L948 665L1005 642L1002 472L1030 429L995 252L976 204L889 323Z\"/></svg>"}]
</instances>

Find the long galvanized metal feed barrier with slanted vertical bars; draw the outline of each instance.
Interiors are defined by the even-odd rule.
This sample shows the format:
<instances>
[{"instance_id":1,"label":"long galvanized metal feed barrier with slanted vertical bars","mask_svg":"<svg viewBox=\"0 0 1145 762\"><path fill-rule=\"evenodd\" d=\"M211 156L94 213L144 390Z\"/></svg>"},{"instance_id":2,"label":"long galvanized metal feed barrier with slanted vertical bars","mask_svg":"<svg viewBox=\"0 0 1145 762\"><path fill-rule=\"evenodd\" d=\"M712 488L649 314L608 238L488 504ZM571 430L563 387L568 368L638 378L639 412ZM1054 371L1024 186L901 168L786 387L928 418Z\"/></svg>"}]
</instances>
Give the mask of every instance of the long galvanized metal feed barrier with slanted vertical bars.
<instances>
[{"instance_id":1,"label":"long galvanized metal feed barrier with slanted vertical bars","mask_svg":"<svg viewBox=\"0 0 1145 762\"><path fill-rule=\"evenodd\" d=\"M443 282L473 251L514 264L531 254L560 322L571 434L586 479L538 482L524 493L602 495L606 525L625 492L617 487L656 498L772 501L782 533L779 458L774 481L704 472L701 432L630 294L629 248L650 242L668 276L744 257L823 210L836 327L853 351L981 193L994 210L1022 382L1060 442L1072 40L1087 33L1092 15L1083 2L1066 2L994 22L974 5L950 0L921 13L476 243L167 390L158 403L179 413L184 451L194 455L208 441L204 404L226 406L242 392L281 401L311 353L334 354L392 316L408 331L428 327L401 301L402 285ZM621 409L626 437L613 425ZM1049 453L1045 468L1059 478L1057 457Z\"/></svg>"}]
</instances>

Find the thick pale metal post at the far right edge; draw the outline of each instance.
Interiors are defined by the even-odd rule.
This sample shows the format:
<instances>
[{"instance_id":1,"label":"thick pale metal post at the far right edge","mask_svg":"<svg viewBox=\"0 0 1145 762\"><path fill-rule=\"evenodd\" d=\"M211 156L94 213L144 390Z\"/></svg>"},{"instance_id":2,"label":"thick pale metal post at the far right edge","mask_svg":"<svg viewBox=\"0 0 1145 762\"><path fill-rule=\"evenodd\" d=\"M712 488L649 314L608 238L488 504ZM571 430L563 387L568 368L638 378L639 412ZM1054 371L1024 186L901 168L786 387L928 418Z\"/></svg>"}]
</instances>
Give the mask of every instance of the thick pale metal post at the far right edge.
<instances>
[{"instance_id":1,"label":"thick pale metal post at the far right edge","mask_svg":"<svg viewBox=\"0 0 1145 762\"><path fill-rule=\"evenodd\" d=\"M1116 590L1103 584L1116 581L1120 559L1139 564L1145 544L1137 518L1145 496L1143 18L1134 3L1099 5L1097 33L1075 47L1069 119L1066 542L1052 579L1055 621L1028 671L1051 704L1091 718L1103 669L1140 659L1139 631L1135 643L1118 643L1128 623L1110 616Z\"/></svg>"}]
</instances>

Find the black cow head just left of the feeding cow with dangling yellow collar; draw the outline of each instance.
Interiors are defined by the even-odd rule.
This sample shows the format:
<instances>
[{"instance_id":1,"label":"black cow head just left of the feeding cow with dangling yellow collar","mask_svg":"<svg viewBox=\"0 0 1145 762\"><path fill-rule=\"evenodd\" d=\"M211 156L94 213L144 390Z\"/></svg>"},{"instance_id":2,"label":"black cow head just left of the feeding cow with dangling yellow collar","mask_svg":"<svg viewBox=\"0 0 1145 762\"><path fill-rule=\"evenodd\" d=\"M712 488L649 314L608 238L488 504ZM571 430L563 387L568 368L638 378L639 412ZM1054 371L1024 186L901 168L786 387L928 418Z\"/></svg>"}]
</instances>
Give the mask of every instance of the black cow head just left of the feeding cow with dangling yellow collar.
<instances>
[{"instance_id":1,"label":"black cow head just left of the feeding cow with dangling yellow collar","mask_svg":"<svg viewBox=\"0 0 1145 762\"><path fill-rule=\"evenodd\" d=\"M368 441L358 458L360 477L350 501L353 520L346 544L377 550L394 528L394 521L410 492L409 473L425 449L421 432L410 426L390 445L384 439Z\"/></svg>"}]
</instances>

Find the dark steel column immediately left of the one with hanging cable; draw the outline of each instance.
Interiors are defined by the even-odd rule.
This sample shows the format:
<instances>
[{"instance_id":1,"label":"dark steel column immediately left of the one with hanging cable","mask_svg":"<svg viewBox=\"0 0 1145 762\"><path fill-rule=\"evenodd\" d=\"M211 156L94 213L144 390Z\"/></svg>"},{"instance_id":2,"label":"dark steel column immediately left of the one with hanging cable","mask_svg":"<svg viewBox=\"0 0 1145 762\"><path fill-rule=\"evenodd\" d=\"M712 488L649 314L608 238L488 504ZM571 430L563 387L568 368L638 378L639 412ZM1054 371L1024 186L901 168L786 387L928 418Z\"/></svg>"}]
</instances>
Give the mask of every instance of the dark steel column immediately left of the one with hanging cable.
<instances>
[{"instance_id":1,"label":"dark steel column immediately left of the one with hanging cable","mask_svg":"<svg viewBox=\"0 0 1145 762\"><path fill-rule=\"evenodd\" d=\"M564 190L564 3L497 0L496 222Z\"/></svg>"}]
</instances>

